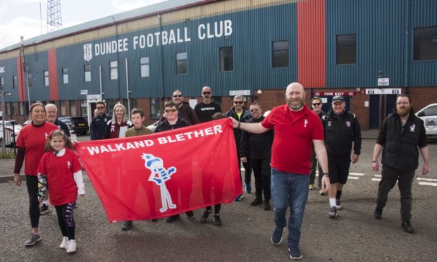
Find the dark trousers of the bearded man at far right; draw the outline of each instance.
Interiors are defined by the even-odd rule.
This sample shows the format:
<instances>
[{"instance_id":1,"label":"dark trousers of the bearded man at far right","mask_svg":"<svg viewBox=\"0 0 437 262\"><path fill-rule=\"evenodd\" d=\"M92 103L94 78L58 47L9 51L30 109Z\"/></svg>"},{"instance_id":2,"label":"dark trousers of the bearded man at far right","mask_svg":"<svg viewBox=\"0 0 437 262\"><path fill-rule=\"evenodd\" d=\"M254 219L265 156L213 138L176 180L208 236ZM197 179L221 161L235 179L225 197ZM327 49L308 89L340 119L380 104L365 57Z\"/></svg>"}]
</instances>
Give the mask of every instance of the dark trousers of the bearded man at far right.
<instances>
[{"instance_id":1,"label":"dark trousers of the bearded man at far right","mask_svg":"<svg viewBox=\"0 0 437 262\"><path fill-rule=\"evenodd\" d=\"M398 181L400 191L400 218L402 221L411 220L412 210L412 183L416 170L402 170L383 166L382 179L378 185L378 199L376 206L384 208L386 206L388 192L395 187Z\"/></svg>"}]
</instances>

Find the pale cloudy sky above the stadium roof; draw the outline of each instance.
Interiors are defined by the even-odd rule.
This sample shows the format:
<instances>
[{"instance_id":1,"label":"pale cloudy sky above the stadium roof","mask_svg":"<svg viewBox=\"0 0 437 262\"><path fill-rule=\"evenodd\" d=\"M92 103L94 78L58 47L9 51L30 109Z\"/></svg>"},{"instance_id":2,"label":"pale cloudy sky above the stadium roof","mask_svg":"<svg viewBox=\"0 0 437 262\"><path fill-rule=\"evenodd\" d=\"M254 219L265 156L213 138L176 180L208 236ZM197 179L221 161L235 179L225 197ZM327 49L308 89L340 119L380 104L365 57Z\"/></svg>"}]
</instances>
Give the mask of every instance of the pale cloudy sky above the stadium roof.
<instances>
[{"instance_id":1,"label":"pale cloudy sky above the stadium roof","mask_svg":"<svg viewBox=\"0 0 437 262\"><path fill-rule=\"evenodd\" d=\"M61 0L62 28L162 1ZM41 35L41 29L42 34L47 32L47 0L0 0L0 49L17 44L20 36Z\"/></svg>"}]
</instances>

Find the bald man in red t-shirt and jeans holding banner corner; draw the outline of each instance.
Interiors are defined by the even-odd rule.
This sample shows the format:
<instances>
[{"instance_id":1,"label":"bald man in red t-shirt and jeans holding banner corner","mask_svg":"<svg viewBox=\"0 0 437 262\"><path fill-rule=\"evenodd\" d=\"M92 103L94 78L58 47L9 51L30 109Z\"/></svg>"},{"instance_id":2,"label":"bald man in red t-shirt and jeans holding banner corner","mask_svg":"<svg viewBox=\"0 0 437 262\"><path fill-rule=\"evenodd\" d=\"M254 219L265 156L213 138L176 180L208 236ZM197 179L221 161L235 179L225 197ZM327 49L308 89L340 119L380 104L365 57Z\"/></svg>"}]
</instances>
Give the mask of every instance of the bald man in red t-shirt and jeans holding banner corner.
<instances>
[{"instance_id":1,"label":"bald man in red t-shirt and jeans holding banner corner","mask_svg":"<svg viewBox=\"0 0 437 262\"><path fill-rule=\"evenodd\" d=\"M273 244L281 244L282 232L288 218L288 251L290 258L300 259L300 227L304 216L309 186L309 163L312 144L321 169L322 187L328 190L328 158L324 145L324 129L319 116L304 104L305 92L300 83L294 82L285 90L287 104L276 106L261 123L241 123L233 120L233 127L254 134L274 130L271 147L271 200L276 227L271 236Z\"/></svg>"}]
</instances>

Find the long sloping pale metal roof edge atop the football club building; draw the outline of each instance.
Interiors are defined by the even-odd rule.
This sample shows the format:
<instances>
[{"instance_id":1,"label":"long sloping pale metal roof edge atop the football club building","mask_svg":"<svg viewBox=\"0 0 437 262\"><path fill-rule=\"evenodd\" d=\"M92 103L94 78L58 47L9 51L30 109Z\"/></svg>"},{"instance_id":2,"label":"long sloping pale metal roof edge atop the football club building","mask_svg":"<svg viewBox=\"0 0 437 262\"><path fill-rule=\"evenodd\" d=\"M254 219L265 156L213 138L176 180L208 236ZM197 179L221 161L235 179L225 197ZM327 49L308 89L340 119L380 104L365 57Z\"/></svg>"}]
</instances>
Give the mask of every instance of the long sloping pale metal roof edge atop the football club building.
<instances>
[{"instance_id":1,"label":"long sloping pale metal roof edge atop the football club building","mask_svg":"<svg viewBox=\"0 0 437 262\"><path fill-rule=\"evenodd\" d=\"M32 37L23 42L19 42L17 44L13 44L11 46L7 46L4 49L0 49L0 53L5 51L11 51L13 49L19 49L21 44L32 45L39 44L42 42L46 42L49 40L53 40L56 38L66 37L68 35L77 34L79 32L85 32L89 30L94 30L99 27L104 27L106 25L111 25L113 23L121 23L128 20L134 20L138 18L144 18L150 15L156 15L158 13L168 13L174 10L187 8L190 6L196 6L200 4L207 4L212 1L219 0L168 0L157 4L152 4L150 6L144 6L141 8L137 8L130 11L125 11L123 13L116 13L114 15L109 15L104 18L99 18L96 20L92 20L86 23L82 23L80 25L73 25L71 27L62 28L60 30L56 30L53 32L46 33L44 35L39 35L37 37Z\"/></svg>"}]
</instances>

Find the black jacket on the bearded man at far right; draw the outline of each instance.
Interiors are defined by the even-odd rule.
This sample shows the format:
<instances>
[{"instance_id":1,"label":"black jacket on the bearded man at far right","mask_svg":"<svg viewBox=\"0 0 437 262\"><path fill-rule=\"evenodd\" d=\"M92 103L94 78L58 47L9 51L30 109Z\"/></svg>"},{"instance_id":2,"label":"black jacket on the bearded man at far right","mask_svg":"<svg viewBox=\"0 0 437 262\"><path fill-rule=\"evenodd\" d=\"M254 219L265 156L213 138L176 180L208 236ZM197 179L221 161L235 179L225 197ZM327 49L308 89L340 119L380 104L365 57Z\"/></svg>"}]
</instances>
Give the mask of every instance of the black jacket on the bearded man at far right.
<instances>
[{"instance_id":1,"label":"black jacket on the bearded man at far right","mask_svg":"<svg viewBox=\"0 0 437 262\"><path fill-rule=\"evenodd\" d=\"M383 120L376 143L383 146L383 166L415 170L419 166L417 147L426 146L424 121L414 116L414 113L410 113L402 132L400 116L391 113Z\"/></svg>"}]
</instances>

